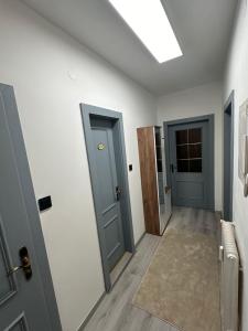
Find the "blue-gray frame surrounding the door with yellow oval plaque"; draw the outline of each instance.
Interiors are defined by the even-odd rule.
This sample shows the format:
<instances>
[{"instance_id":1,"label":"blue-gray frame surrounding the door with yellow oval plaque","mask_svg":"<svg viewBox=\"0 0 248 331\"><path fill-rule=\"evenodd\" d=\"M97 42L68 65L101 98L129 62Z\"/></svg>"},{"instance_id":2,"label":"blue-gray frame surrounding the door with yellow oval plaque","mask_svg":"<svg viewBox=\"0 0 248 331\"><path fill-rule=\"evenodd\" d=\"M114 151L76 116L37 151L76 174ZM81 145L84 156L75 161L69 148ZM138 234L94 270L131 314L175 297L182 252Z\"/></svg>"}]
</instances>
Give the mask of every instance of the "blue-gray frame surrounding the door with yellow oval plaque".
<instances>
[{"instance_id":1,"label":"blue-gray frame surrounding the door with yellow oval plaque","mask_svg":"<svg viewBox=\"0 0 248 331\"><path fill-rule=\"evenodd\" d=\"M84 135L85 135L85 143L86 150L88 156L88 166L89 166L89 174L90 174L90 182L91 182L91 191L93 191L93 199L94 199L94 207L95 207L95 215L96 215L96 223L97 223L97 232L98 232L98 239L100 246L100 256L101 256L101 265L103 265L103 273L104 273L104 280L105 280L105 288L106 291L111 289L111 279L110 279L110 271L108 268L107 263L107 252L105 250L104 238L101 237L101 231L99 228L99 223L97 218L97 182L95 175L95 167L94 167L94 150L95 146L91 139L91 126L90 126L90 116L99 117L103 119L109 119L115 122L114 126L114 135L115 139L118 143L118 149L115 150L116 153L116 162L119 169L119 177L121 181L122 199L120 200L120 209L121 211L121 218L123 224L123 237L125 237L125 248L126 252L134 254L134 238L133 238L133 228L132 228L132 215L131 215L131 204L130 204L130 193L129 193L129 184L128 184L128 170L127 170L127 157L126 157L126 148L125 148L125 135L123 135L123 120L122 114L119 111L114 111L87 104L80 104L80 113L84 126Z\"/></svg>"}]
</instances>

